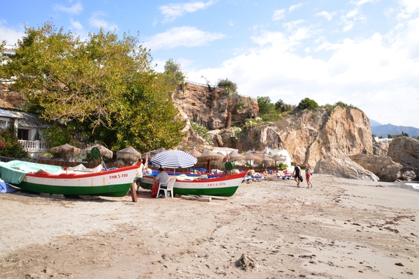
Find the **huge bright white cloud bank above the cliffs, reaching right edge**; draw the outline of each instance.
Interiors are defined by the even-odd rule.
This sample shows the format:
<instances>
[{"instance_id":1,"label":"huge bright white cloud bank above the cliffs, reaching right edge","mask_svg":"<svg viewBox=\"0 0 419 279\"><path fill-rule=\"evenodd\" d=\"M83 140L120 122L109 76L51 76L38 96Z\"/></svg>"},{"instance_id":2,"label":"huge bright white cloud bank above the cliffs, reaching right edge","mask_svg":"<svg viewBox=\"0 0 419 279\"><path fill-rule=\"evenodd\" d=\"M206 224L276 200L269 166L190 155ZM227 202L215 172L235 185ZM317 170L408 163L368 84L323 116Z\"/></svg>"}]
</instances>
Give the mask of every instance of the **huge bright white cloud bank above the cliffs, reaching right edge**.
<instances>
[{"instance_id":1,"label":"huge bright white cloud bank above the cliffs, reaching right edge","mask_svg":"<svg viewBox=\"0 0 419 279\"><path fill-rule=\"evenodd\" d=\"M295 26L296 24L294 24ZM251 39L258 47L243 51L218 68L189 70L189 80L228 77L245 96L270 96L297 104L309 97L320 105L342 101L360 107L382 123L417 126L419 115L419 18L392 33L346 38L329 43L319 38L318 50L330 59L292 52L295 33L263 31ZM388 38L391 36L391 38ZM389 41L391 43L389 43ZM186 69L188 70L188 69ZM399 98L403 96L403 98ZM406 102L409 100L409 102Z\"/></svg>"}]
</instances>

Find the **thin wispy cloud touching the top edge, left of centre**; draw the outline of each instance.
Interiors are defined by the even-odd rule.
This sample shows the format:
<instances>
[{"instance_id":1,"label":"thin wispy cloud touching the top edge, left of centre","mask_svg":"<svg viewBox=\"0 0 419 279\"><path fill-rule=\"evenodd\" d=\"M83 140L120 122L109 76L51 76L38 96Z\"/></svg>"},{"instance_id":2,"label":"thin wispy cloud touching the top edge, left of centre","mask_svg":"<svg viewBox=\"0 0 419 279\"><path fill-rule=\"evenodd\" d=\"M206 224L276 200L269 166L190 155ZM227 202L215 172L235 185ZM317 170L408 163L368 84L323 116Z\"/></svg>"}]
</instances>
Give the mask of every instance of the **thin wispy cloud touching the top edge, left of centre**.
<instances>
[{"instance_id":1,"label":"thin wispy cloud touching the top edge, left of centre","mask_svg":"<svg viewBox=\"0 0 419 279\"><path fill-rule=\"evenodd\" d=\"M181 17L186 13L194 13L197 10L203 10L216 3L218 0L210 0L207 2L196 1L190 3L171 3L159 7L161 14L164 15L165 19L163 22L171 22L177 17Z\"/></svg>"}]
</instances>

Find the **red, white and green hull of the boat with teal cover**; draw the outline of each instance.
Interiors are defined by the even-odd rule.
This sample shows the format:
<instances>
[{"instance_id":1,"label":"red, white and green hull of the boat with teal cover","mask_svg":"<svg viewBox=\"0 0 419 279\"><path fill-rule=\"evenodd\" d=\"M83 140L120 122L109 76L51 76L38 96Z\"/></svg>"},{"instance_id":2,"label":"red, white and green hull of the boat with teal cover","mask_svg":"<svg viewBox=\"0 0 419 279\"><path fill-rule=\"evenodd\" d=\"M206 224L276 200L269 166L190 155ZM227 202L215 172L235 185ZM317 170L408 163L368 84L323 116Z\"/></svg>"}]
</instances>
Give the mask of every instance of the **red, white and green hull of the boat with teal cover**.
<instances>
[{"instance_id":1,"label":"red, white and green hull of the boat with teal cover","mask_svg":"<svg viewBox=\"0 0 419 279\"><path fill-rule=\"evenodd\" d=\"M138 166L103 172L75 174L29 173L14 185L38 193L124 197L131 188Z\"/></svg>"}]
</instances>

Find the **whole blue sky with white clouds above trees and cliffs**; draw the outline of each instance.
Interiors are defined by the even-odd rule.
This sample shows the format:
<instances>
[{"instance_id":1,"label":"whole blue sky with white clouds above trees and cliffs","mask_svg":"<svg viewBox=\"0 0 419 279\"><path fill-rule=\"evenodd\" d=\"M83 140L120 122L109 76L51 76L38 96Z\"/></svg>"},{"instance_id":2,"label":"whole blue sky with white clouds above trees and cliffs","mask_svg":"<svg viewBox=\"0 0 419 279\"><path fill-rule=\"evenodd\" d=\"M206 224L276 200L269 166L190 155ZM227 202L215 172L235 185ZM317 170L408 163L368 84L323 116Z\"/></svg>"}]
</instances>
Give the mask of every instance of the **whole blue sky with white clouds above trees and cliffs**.
<instances>
[{"instance_id":1,"label":"whole blue sky with white clouds above trees and cliffs","mask_svg":"<svg viewBox=\"0 0 419 279\"><path fill-rule=\"evenodd\" d=\"M192 82L419 128L419 0L15 0L0 6L0 41L47 21L84 39L101 27L139 36L156 70L173 59Z\"/></svg>"}]
</instances>

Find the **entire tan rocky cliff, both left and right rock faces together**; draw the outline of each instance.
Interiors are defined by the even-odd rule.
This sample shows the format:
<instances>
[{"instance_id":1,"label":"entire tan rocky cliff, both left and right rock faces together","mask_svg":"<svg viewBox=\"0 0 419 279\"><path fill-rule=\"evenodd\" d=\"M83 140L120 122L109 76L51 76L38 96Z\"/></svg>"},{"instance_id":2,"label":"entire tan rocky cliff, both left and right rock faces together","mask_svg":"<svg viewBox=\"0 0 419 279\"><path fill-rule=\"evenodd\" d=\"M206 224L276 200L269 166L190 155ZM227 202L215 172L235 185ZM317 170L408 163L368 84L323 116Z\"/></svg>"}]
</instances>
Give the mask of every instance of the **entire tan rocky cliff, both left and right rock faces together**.
<instances>
[{"instance_id":1,"label":"entire tan rocky cliff, both left and right rock faces together","mask_svg":"<svg viewBox=\"0 0 419 279\"><path fill-rule=\"evenodd\" d=\"M244 119L258 116L255 99L237 94L231 98L223 89L187 84L183 91L179 86L173 100L189 120L208 130L226 128L214 136L216 146L240 151L286 149L294 162L311 167L332 150L354 155L366 148L367 153L373 153L369 119L359 110L304 110L284 116L281 121L247 128ZM242 133L231 133L229 128L233 126L241 127Z\"/></svg>"}]
</instances>

